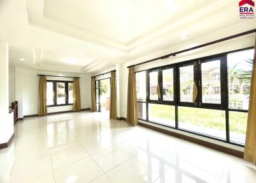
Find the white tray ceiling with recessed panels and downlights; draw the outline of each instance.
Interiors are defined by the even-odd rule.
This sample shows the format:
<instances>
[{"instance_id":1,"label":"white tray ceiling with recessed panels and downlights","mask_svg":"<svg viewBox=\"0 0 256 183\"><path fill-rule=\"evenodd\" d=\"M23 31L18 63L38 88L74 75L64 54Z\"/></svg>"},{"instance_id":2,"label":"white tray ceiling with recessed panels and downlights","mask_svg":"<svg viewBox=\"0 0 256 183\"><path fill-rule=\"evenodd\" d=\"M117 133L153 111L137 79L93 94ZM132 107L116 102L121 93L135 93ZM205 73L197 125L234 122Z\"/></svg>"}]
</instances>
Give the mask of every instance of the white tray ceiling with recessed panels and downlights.
<instances>
[{"instance_id":1,"label":"white tray ceiling with recessed panels and downlights","mask_svg":"<svg viewBox=\"0 0 256 183\"><path fill-rule=\"evenodd\" d=\"M0 40L11 66L94 73L241 21L237 33L255 28L237 8L236 0L1 0Z\"/></svg>"}]
</instances>

